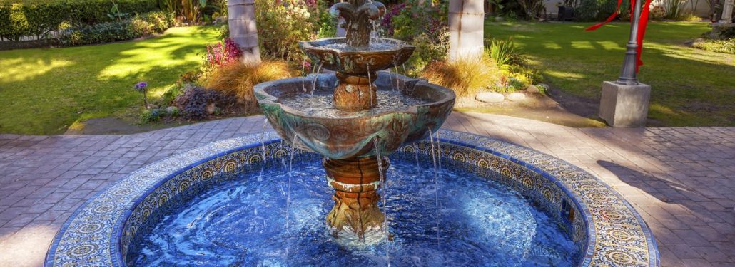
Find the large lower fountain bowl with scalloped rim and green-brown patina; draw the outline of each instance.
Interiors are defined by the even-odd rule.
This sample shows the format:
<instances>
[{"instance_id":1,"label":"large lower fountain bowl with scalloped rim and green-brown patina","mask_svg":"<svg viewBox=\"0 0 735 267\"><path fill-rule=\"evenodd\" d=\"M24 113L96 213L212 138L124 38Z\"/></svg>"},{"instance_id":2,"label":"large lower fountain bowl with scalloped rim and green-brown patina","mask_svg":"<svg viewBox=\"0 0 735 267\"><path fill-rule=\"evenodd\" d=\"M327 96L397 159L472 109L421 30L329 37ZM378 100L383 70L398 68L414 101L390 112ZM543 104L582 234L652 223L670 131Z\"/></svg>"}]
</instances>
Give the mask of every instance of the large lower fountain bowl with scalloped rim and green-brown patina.
<instances>
[{"instance_id":1,"label":"large lower fountain bowl with scalloped rim and green-brown patina","mask_svg":"<svg viewBox=\"0 0 735 267\"><path fill-rule=\"evenodd\" d=\"M377 139L387 156L404 143L437 131L451 113L455 95L424 80L379 72L377 104L367 111L340 111L331 101L334 74L258 84L255 95L270 125L288 142L328 158L373 156Z\"/></svg>"}]
</instances>

